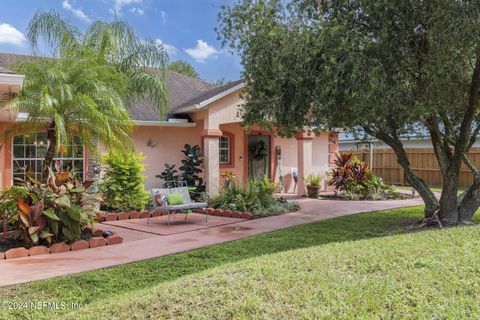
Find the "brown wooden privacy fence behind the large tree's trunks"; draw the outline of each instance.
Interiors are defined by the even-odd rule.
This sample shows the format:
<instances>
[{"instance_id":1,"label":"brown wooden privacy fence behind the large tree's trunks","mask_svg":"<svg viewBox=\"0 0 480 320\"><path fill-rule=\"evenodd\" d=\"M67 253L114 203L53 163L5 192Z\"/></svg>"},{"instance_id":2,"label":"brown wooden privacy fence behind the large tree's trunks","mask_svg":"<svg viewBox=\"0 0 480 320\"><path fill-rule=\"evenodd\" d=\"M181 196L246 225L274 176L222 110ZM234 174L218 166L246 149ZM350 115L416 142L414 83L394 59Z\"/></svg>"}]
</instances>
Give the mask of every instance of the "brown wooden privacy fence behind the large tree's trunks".
<instances>
[{"instance_id":1,"label":"brown wooden privacy fence behind the large tree's trunks","mask_svg":"<svg viewBox=\"0 0 480 320\"><path fill-rule=\"evenodd\" d=\"M368 150L352 150L348 151L357 156L361 160L368 163L373 172L382 177L385 183L408 185L405 178L403 168L397 163L395 152L391 149L374 149L373 165L370 162L370 154ZM432 187L442 185L442 175L438 167L437 159L433 153L433 149L429 148L410 148L406 149L410 165L415 173ZM472 148L469 153L470 160L480 168L480 148ZM464 188L473 183L471 171L462 165L460 172L460 187Z\"/></svg>"}]
</instances>

